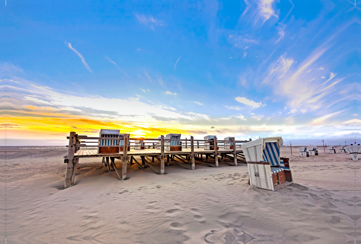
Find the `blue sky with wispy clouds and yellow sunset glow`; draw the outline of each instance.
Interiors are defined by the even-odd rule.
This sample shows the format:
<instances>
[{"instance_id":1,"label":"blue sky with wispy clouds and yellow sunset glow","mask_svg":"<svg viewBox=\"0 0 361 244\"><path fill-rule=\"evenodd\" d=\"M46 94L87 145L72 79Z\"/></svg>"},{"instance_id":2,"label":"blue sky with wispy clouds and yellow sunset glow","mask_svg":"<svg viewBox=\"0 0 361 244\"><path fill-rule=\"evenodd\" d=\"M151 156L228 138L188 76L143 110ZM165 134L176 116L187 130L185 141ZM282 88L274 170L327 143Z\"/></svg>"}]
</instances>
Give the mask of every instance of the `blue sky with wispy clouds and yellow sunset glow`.
<instances>
[{"instance_id":1,"label":"blue sky with wispy clouds and yellow sunset glow","mask_svg":"<svg viewBox=\"0 0 361 244\"><path fill-rule=\"evenodd\" d=\"M361 1L0 5L0 145L70 131L361 142Z\"/></svg>"}]
</instances>

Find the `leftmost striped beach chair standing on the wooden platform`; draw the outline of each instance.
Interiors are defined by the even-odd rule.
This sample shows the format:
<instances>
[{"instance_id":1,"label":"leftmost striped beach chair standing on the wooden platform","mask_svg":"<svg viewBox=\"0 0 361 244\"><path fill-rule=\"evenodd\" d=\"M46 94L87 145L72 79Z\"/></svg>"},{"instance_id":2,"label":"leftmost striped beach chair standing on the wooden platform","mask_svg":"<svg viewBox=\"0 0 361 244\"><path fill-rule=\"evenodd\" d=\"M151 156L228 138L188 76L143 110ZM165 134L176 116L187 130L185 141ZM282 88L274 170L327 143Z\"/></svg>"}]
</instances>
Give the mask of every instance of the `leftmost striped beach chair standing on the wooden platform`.
<instances>
[{"instance_id":1,"label":"leftmost striped beach chair standing on the wooden platform","mask_svg":"<svg viewBox=\"0 0 361 244\"><path fill-rule=\"evenodd\" d=\"M98 153L119 153L119 141L115 140L119 138L119 130L100 129L99 137L106 139L98 141Z\"/></svg>"}]
</instances>

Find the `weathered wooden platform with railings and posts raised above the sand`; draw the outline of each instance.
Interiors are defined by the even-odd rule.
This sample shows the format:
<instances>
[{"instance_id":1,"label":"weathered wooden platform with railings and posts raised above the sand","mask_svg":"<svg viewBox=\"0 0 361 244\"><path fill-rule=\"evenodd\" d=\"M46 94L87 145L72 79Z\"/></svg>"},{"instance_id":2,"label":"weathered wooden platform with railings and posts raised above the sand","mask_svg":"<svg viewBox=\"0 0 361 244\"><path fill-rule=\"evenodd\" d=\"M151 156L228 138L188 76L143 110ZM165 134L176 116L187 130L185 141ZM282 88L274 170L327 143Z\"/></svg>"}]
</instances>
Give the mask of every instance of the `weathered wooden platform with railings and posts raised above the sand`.
<instances>
[{"instance_id":1,"label":"weathered wooden platform with railings and posts raised above the sand","mask_svg":"<svg viewBox=\"0 0 361 244\"><path fill-rule=\"evenodd\" d=\"M245 143L248 141L232 141L227 140L196 140L191 136L190 139L165 139L161 136L160 139L146 139L146 138L109 138L112 140L123 140L123 145L102 146L102 145L88 145L85 143L97 143L99 140L105 139L104 137L88 137L86 135L78 135L75 132L70 132L68 145L68 155L64 156L64 163L67 164L65 173L65 188L68 188L74 184L75 170L79 163L80 158L102 158L103 163L108 167L109 171L116 171L119 180L126 180L127 176L127 164L137 164L139 168L150 167L155 173L160 175L164 174L165 163L169 165L170 162L177 163L182 168L187 170L195 169L195 161L208 166L218 167L218 162L226 163L230 166L237 166L237 158L245 159L244 154L239 143ZM86 140L86 141L84 141ZM88 141L91 140L91 141ZM132 141L143 140L147 141L148 145L144 145L145 149L132 149L135 148L135 142ZM171 148L179 147L179 145L165 145L165 142L181 141L181 151L173 151ZM184 142L184 144L183 144ZM188 143L189 142L189 143ZM232 143L232 149L224 149L225 146L230 147L229 143ZM213 150L205 150L206 143L213 143L211 146ZM223 144L222 144L223 143ZM237 145L238 143L238 145ZM170 143L169 143L170 144ZM119 153L97 153L99 147L119 147L123 149L123 152L119 150ZM129 148L129 149L128 149ZM159 149L157 149L159 148ZM168 148L168 151L165 150ZM169 150L170 149L170 150ZM205 158L203 158L203 155ZM221 156L221 159L218 158ZM141 162L135 159L140 157ZM214 159L214 164L208 162L208 158ZM223 158L232 159L233 163L223 161ZM115 159L122 161L122 170L116 167ZM160 171L158 171L152 162L154 160L160 161ZM166 162L165 162L166 160ZM110 162L109 162L110 161Z\"/></svg>"}]
</instances>

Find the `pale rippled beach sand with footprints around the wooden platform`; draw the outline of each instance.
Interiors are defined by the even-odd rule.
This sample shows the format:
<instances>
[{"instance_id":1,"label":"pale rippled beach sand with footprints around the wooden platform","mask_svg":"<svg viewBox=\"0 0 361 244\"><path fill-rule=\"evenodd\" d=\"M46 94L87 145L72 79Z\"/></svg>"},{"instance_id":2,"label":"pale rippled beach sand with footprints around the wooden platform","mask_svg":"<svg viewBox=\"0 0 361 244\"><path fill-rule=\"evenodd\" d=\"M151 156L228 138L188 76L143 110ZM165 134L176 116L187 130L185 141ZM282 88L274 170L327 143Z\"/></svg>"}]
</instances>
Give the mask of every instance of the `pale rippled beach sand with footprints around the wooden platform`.
<instances>
[{"instance_id":1,"label":"pale rippled beach sand with footprints around the wooden platform","mask_svg":"<svg viewBox=\"0 0 361 244\"><path fill-rule=\"evenodd\" d=\"M0 235L10 244L360 243L361 161L292 152L281 155L295 183L273 192L247 184L246 164L174 164L166 175L133 165L119 181L101 158L81 159L64 190L66 150L1 151Z\"/></svg>"}]
</instances>

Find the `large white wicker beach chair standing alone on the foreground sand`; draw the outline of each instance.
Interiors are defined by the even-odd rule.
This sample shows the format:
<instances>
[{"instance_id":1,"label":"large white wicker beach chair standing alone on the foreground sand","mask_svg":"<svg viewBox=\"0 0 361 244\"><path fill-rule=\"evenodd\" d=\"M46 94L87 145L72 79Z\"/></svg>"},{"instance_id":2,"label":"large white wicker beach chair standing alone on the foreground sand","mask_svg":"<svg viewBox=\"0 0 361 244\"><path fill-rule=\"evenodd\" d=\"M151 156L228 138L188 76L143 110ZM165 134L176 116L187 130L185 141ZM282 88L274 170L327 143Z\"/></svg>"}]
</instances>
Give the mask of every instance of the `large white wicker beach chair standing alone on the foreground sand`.
<instances>
[{"instance_id":1,"label":"large white wicker beach chair standing alone on the foreground sand","mask_svg":"<svg viewBox=\"0 0 361 244\"><path fill-rule=\"evenodd\" d=\"M290 160L280 158L282 145L282 137L260 138L242 144L250 185L274 191L292 184Z\"/></svg>"}]
</instances>

